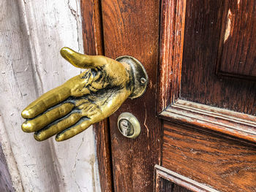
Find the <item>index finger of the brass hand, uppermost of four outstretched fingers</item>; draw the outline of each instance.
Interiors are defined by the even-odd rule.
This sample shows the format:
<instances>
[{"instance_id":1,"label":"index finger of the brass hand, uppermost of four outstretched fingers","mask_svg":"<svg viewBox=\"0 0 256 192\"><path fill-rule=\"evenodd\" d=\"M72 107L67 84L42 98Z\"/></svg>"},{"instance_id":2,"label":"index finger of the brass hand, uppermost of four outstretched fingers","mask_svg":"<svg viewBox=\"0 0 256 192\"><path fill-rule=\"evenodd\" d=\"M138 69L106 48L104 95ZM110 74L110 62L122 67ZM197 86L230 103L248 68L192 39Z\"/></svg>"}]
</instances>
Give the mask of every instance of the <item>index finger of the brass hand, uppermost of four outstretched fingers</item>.
<instances>
[{"instance_id":1,"label":"index finger of the brass hand, uppermost of four outstretched fingers","mask_svg":"<svg viewBox=\"0 0 256 192\"><path fill-rule=\"evenodd\" d=\"M54 88L51 91L40 96L36 101L29 104L28 107L21 112L21 116L25 119L34 118L48 110L48 108L59 104L70 96L70 89L66 88L64 85Z\"/></svg>"}]
</instances>

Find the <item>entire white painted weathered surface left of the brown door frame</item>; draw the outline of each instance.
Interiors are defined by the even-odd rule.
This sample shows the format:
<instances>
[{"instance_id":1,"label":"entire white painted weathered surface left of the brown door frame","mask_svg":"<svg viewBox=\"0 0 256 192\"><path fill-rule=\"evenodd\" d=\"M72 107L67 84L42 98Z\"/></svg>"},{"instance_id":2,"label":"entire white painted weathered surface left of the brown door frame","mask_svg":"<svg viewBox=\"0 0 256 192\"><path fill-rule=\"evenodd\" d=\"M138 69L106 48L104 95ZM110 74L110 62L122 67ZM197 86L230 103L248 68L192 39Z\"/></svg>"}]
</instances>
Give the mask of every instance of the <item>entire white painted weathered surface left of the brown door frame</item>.
<instances>
[{"instance_id":1,"label":"entire white painted weathered surface left of the brown door frame","mask_svg":"<svg viewBox=\"0 0 256 192\"><path fill-rule=\"evenodd\" d=\"M59 50L83 53L79 0L0 1L0 142L16 191L100 191L92 128L65 142L34 140L20 112L80 73Z\"/></svg>"}]
</instances>

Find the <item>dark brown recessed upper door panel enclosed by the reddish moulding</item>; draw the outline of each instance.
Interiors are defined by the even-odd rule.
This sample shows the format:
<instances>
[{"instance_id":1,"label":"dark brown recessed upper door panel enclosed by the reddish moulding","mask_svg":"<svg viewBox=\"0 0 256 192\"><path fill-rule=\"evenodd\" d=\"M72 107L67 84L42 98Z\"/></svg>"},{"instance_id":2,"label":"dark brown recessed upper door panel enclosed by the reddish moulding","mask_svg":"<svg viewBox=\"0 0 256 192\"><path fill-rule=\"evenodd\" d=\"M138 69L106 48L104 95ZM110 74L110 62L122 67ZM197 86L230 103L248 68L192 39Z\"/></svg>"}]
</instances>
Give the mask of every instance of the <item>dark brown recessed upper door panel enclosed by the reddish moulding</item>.
<instances>
[{"instance_id":1,"label":"dark brown recessed upper door panel enclosed by the reddish moulding","mask_svg":"<svg viewBox=\"0 0 256 192\"><path fill-rule=\"evenodd\" d=\"M255 66L253 60L256 57L255 48L253 49L255 33L251 33L251 31L248 33L248 30L253 31L255 26L250 25L249 29L243 27L240 27L239 30L236 29L239 27L239 22L242 22L242 20L238 21L238 17L243 11L247 12L248 22L249 20L256 20L255 14L250 12L252 8L247 9L248 7L245 6L245 4L251 4L249 7L252 7L255 1L249 3L249 1L243 0L240 2L241 7L239 9L238 7L236 9L230 7L228 2L227 0L187 1L181 99L255 115L256 83L252 80L227 78L215 74L216 66L219 64L218 53L222 55L219 61L220 70L225 67L226 73L246 74L247 70L252 74L256 72L256 67L253 67ZM225 28L225 20L229 20L230 17L227 15L226 9L232 9L234 28L232 34L225 41L225 33L221 33L221 31L222 26ZM244 13L244 15L246 14ZM245 20L246 16L242 18ZM252 22L249 23L252 24ZM245 23L241 25L245 25ZM240 34L236 31L239 31ZM219 47L219 42L222 41L225 41L223 49ZM252 46L249 46L249 42L252 42ZM248 50L249 47L252 50ZM244 52L249 54L248 57ZM245 61L244 57L247 57L248 61ZM240 61L245 63L239 64ZM232 71L231 68L236 72ZM244 79L242 76L241 78Z\"/></svg>"}]
</instances>

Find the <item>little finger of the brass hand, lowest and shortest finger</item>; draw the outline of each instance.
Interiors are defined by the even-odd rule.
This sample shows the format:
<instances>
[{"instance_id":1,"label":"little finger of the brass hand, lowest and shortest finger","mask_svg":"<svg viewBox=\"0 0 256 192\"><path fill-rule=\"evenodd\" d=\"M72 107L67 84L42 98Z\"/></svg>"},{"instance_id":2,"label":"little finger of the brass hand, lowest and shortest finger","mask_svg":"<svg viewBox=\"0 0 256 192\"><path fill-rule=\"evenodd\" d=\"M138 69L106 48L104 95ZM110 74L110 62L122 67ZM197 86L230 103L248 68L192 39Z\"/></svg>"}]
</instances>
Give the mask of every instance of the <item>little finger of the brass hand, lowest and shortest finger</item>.
<instances>
[{"instance_id":1,"label":"little finger of the brass hand, lowest and shortest finger","mask_svg":"<svg viewBox=\"0 0 256 192\"><path fill-rule=\"evenodd\" d=\"M71 137L74 137L76 134L79 134L80 132L86 130L86 128L89 128L91 126L91 122L88 118L84 117L81 118L78 123L75 123L74 126L71 126L64 131L61 131L59 134L56 135L56 141L61 142L66 139L69 139Z\"/></svg>"}]
</instances>

